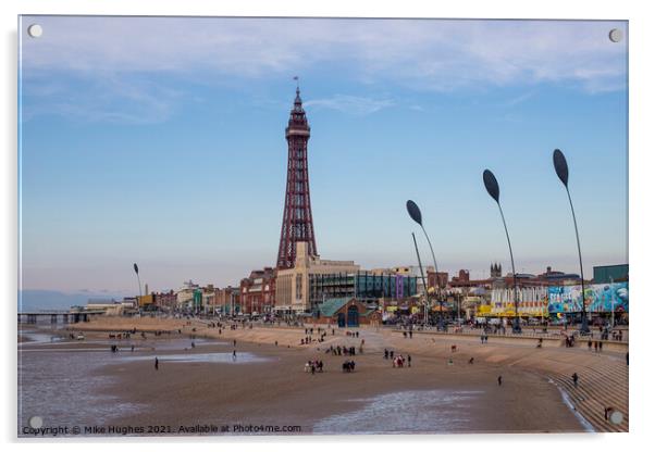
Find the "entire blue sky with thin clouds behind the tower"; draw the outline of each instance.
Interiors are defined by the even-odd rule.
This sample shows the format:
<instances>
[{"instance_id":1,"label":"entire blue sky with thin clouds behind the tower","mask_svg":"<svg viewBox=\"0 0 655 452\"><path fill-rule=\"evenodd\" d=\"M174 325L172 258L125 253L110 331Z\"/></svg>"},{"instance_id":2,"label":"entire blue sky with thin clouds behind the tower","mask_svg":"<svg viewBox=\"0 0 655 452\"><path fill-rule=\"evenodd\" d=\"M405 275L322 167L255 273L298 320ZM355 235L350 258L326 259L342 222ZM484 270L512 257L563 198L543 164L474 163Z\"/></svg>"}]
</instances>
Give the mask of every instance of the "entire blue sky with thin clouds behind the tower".
<instances>
[{"instance_id":1,"label":"entire blue sky with thin clouds behind the tower","mask_svg":"<svg viewBox=\"0 0 655 452\"><path fill-rule=\"evenodd\" d=\"M27 37L32 23L44 27ZM273 265L284 127L300 77L322 258L415 264L405 201L440 267L625 263L622 22L23 17L22 287L133 293L237 284ZM418 236L428 258L429 250Z\"/></svg>"}]
</instances>

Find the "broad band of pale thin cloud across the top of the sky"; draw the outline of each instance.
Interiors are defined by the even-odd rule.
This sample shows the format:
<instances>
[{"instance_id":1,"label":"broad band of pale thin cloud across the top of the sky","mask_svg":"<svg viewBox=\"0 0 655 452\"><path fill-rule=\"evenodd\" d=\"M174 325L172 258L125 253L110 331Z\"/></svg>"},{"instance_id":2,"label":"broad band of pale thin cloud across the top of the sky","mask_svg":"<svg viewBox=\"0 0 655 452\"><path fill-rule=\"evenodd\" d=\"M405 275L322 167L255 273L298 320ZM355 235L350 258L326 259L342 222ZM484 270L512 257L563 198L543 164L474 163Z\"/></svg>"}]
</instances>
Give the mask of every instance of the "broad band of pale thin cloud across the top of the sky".
<instances>
[{"instance_id":1,"label":"broad band of pale thin cloud across the top of the sky","mask_svg":"<svg viewBox=\"0 0 655 452\"><path fill-rule=\"evenodd\" d=\"M187 72L244 77L348 62L374 79L417 87L615 80L626 72L622 22L38 17L23 66L78 73ZM30 21L23 21L25 28ZM384 70L384 72L379 72Z\"/></svg>"}]
</instances>

